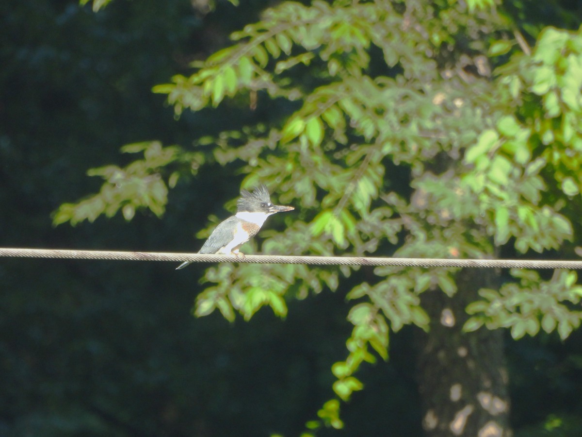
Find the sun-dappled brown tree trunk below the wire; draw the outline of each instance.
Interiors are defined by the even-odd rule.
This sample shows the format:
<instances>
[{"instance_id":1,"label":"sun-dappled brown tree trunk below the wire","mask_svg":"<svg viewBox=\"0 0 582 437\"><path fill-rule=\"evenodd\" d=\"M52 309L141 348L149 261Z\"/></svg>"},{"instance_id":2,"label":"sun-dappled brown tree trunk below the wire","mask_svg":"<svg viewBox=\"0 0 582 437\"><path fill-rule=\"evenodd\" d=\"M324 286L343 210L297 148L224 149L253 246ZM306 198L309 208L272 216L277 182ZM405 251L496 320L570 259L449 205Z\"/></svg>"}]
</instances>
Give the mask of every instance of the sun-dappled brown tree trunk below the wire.
<instances>
[{"instance_id":1,"label":"sun-dappled brown tree trunk below the wire","mask_svg":"<svg viewBox=\"0 0 582 437\"><path fill-rule=\"evenodd\" d=\"M464 309L494 278L493 271L464 269L452 298L441 290L422 295L431 326L417 337L417 380L429 437L512 435L502 332L462 332Z\"/></svg>"}]
</instances>

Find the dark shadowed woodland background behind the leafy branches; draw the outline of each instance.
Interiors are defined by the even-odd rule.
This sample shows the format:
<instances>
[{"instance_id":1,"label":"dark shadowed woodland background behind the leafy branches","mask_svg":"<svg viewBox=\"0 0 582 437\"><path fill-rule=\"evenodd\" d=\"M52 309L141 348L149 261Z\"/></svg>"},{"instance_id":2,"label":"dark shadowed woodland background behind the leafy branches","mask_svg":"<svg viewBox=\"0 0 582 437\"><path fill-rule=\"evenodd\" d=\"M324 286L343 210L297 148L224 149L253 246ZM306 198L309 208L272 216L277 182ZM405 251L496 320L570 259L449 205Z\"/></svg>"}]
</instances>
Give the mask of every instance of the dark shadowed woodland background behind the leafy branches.
<instances>
[{"instance_id":1,"label":"dark shadowed woodland background behind the leafy branches","mask_svg":"<svg viewBox=\"0 0 582 437\"><path fill-rule=\"evenodd\" d=\"M164 96L151 93L268 5L218 2L210 11L182 0L116 0L93 13L73 1L2 2L0 245L196 251L208 215L228 215L223 205L243 177L235 168L210 164L181 179L161 220L138 213L129 223L116 216L55 228L51 213L98 190L86 170L125 164L123 144L187 148L200 135L268 117L264 106L226 107L176 120ZM554 7L548 2L537 18L555 19ZM289 302L286 320L263 310L229 324L217 313L191 316L204 266L174 268L2 259L0 436L299 434L333 397L330 366L346 355L343 287ZM342 405L346 428L321 435L421 434L412 334L391 337L388 363L363 367L365 390ZM581 343L580 332L564 343L545 334L508 340L517 435L579 435ZM571 422L572 434L544 431L552 414Z\"/></svg>"}]
</instances>

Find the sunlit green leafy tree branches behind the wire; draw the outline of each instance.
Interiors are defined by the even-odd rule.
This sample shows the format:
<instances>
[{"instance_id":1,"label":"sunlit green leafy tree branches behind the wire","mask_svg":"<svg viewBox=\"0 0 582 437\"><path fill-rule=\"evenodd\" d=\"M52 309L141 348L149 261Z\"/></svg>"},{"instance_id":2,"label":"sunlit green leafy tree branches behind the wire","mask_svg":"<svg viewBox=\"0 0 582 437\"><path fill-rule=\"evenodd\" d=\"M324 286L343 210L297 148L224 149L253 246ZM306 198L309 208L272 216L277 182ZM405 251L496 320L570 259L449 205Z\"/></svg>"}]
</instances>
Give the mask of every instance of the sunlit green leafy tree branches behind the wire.
<instances>
[{"instance_id":1,"label":"sunlit green leafy tree branches behind the wire","mask_svg":"<svg viewBox=\"0 0 582 437\"><path fill-rule=\"evenodd\" d=\"M573 239L575 216L566 214L582 187L581 31L545 29L529 54L508 43L514 33L488 1L283 2L232 34L232 46L195 62L192 75L176 75L154 91L167 94L178 115L240 105L239 96L248 96L251 108L290 102L266 128L242 131L242 145L229 139L211 152L219 163L242 168L244 186L266 181L275 188L276 182L281 202L300 209L284 218L285 234L262 232L264 253L491 258L498 248L544 252ZM491 62L499 62L493 76ZM90 213L88 203L63 206L56 223L111 215L127 205L128 219L140 207L161 214L162 182L155 195L154 186L141 185L137 200L134 191L113 187L115 175L158 172L182 153L171 150L171 160L139 161L139 170L130 164L97 171L107 182L88 202L105 205L91 203ZM119 194L109 198L111 191ZM340 276L353 273L348 267L219 265L207 270L211 284L194 312L218 309L228 320L236 312L250 319L269 305L285 316L283 296L336 290ZM342 400L362 389L353 375L362 362L375 361L374 351L388 358L389 328L427 329L423 291L462 292L452 269L378 267L374 273L348 294L349 352L332 366L333 390ZM541 326L565 338L579 326L582 312L567 304L579 302L576 276L556 274L545 282L531 272L513 276L469 305L474 317L467 330L510 327L517 339ZM340 428L339 403L325 405L320 419Z\"/></svg>"}]
</instances>

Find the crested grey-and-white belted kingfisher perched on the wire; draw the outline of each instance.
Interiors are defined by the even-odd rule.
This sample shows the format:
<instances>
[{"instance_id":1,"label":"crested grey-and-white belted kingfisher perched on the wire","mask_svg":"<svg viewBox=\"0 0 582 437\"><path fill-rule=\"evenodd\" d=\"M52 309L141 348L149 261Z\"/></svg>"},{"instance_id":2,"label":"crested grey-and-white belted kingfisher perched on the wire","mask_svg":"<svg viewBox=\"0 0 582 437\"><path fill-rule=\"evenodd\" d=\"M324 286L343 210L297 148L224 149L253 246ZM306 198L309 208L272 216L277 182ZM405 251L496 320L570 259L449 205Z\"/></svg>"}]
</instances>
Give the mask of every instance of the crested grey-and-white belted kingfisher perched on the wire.
<instances>
[{"instance_id":1,"label":"crested grey-and-white belted kingfisher perched on the wire","mask_svg":"<svg viewBox=\"0 0 582 437\"><path fill-rule=\"evenodd\" d=\"M239 200L236 201L236 214L214 228L198 253L244 256L244 253L239 252L239 247L257 235L268 216L292 210L292 206L273 205L265 185L258 186L252 193L242 190ZM183 262L176 270L183 269L190 263L191 261Z\"/></svg>"}]
</instances>

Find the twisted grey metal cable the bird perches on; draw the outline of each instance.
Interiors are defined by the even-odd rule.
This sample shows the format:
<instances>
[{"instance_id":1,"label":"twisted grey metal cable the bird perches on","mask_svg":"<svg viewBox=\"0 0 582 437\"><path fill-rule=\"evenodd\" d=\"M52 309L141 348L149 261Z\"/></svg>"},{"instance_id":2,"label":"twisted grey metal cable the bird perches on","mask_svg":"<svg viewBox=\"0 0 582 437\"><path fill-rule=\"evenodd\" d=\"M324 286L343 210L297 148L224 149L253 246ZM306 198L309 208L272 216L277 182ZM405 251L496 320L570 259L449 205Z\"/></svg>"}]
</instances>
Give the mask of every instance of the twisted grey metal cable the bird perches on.
<instances>
[{"instance_id":1,"label":"twisted grey metal cable the bird perches on","mask_svg":"<svg viewBox=\"0 0 582 437\"><path fill-rule=\"evenodd\" d=\"M479 267L498 269L582 269L582 260L375 258L365 256L207 255L203 253L83 251L0 248L0 256L16 258L103 259L172 262L246 262L315 266Z\"/></svg>"}]
</instances>

